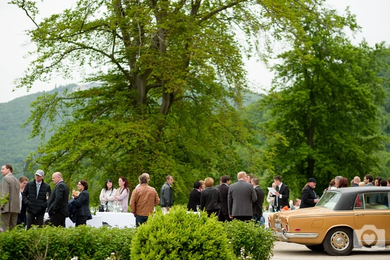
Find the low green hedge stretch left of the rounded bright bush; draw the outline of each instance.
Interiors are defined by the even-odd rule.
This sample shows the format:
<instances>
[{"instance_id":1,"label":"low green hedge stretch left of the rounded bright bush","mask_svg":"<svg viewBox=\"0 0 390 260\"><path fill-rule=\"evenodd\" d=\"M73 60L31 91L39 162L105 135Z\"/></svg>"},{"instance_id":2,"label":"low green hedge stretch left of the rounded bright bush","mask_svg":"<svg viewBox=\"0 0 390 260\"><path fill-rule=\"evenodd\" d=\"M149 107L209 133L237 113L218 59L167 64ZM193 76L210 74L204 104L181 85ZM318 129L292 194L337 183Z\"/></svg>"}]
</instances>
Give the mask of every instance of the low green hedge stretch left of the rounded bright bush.
<instances>
[{"instance_id":1,"label":"low green hedge stretch left of the rounded bright bush","mask_svg":"<svg viewBox=\"0 0 390 260\"><path fill-rule=\"evenodd\" d=\"M16 227L0 233L0 259L106 259L111 253L129 259L134 229Z\"/></svg>"}]
</instances>

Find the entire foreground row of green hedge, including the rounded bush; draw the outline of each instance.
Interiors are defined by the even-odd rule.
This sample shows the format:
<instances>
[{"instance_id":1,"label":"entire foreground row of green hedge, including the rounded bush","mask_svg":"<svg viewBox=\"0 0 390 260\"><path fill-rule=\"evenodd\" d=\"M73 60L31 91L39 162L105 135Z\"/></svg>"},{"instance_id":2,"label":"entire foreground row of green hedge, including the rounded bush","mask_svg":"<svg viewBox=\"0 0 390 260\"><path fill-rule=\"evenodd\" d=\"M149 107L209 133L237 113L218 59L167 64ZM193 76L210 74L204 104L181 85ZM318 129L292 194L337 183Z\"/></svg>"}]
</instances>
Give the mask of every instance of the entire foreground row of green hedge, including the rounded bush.
<instances>
[{"instance_id":1,"label":"entire foreground row of green hedge, including the rounded bush","mask_svg":"<svg viewBox=\"0 0 390 260\"><path fill-rule=\"evenodd\" d=\"M0 233L0 260L269 260L274 241L271 230L252 222L221 223L206 212L187 213L186 207L174 206L137 229L16 227Z\"/></svg>"}]
</instances>

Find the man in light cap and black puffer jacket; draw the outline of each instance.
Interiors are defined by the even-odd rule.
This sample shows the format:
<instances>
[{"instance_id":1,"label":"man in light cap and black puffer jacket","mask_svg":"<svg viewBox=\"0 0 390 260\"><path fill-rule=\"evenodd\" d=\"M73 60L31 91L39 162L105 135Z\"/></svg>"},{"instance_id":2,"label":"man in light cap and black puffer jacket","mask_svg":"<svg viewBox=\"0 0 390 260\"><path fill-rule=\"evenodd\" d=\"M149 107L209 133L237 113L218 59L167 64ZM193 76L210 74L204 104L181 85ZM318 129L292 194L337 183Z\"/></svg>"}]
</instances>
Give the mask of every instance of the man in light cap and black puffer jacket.
<instances>
[{"instance_id":1,"label":"man in light cap and black puffer jacket","mask_svg":"<svg viewBox=\"0 0 390 260\"><path fill-rule=\"evenodd\" d=\"M42 226L43 217L47 207L46 193L50 194L51 188L43 182L43 170L35 172L35 180L27 183L22 193L22 200L26 204L27 218L26 228L31 225Z\"/></svg>"}]
</instances>

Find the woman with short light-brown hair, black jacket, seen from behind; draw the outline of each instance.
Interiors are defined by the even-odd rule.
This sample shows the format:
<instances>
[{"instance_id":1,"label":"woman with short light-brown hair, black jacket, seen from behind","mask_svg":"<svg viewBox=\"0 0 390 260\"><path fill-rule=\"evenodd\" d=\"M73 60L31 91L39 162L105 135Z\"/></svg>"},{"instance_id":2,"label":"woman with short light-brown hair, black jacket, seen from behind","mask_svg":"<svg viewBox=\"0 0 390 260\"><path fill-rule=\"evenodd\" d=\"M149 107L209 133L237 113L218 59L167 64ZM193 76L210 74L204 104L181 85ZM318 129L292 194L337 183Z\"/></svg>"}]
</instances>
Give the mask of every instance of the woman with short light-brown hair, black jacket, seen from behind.
<instances>
[{"instance_id":1,"label":"woman with short light-brown hair, black jacket, seen from behind","mask_svg":"<svg viewBox=\"0 0 390 260\"><path fill-rule=\"evenodd\" d=\"M200 210L205 209L208 216L212 214L218 216L220 203L222 202L221 194L219 189L213 187L214 180L213 178L207 177L204 180L206 188L200 193Z\"/></svg>"}]
</instances>

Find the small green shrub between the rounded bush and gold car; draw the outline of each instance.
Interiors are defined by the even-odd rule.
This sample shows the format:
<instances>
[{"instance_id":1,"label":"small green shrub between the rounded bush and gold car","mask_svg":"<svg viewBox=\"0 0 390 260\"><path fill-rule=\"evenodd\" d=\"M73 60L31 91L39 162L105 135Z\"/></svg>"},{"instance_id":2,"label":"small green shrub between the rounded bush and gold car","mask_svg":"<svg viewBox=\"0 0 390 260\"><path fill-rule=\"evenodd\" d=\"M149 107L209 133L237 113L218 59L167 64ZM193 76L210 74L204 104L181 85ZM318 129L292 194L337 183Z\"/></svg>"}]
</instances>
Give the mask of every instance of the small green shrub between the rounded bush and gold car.
<instances>
[{"instance_id":1,"label":"small green shrub between the rounded bush and gold car","mask_svg":"<svg viewBox=\"0 0 390 260\"><path fill-rule=\"evenodd\" d=\"M230 240L229 246L236 257L252 257L269 260L273 256L273 242L276 241L269 228L259 227L253 222L233 220L224 223L224 231Z\"/></svg>"}]
</instances>

